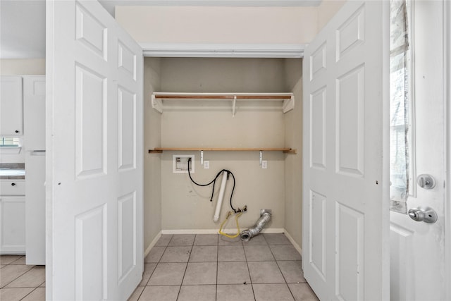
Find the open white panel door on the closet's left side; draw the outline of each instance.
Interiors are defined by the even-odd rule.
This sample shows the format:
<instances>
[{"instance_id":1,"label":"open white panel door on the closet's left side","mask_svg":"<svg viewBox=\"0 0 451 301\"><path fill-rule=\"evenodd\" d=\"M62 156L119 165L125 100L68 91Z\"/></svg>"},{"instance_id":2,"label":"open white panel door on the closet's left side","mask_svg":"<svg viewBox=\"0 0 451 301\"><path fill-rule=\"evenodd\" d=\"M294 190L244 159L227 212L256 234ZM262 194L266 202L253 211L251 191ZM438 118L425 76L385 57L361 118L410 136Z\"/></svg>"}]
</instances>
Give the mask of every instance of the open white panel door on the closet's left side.
<instances>
[{"instance_id":1,"label":"open white panel door on the closet's left side","mask_svg":"<svg viewBox=\"0 0 451 301\"><path fill-rule=\"evenodd\" d=\"M140 283L142 65L97 1L47 1L48 300L126 300Z\"/></svg>"}]
</instances>

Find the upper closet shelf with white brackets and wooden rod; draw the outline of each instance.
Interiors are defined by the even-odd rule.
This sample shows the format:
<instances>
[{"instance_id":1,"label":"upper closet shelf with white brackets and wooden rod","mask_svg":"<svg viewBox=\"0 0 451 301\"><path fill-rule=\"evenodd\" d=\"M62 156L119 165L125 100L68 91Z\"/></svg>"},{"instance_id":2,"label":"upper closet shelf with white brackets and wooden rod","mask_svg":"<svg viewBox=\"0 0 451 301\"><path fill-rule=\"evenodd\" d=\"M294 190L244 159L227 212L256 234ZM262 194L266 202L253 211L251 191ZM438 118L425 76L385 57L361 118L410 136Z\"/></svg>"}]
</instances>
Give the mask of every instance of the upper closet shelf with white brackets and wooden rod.
<instances>
[{"instance_id":1,"label":"upper closet shelf with white brackets and wooden rod","mask_svg":"<svg viewBox=\"0 0 451 301\"><path fill-rule=\"evenodd\" d=\"M232 103L232 116L235 116L236 103L242 101L280 101L280 108L287 113L295 108L295 95L292 93L181 93L181 92L154 92L152 93L152 108L163 113L165 102L174 99L199 100L199 99L225 99Z\"/></svg>"}]
</instances>

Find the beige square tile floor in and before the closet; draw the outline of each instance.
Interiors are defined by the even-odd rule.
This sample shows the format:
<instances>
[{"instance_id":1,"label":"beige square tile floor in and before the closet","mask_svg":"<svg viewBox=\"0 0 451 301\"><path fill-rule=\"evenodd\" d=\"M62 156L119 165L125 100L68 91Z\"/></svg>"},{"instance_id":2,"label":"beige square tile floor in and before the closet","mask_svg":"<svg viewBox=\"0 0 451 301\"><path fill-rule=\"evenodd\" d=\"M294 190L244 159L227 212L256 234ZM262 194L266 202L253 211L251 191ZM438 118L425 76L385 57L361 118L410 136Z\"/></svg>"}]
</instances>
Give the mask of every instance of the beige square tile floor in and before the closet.
<instances>
[{"instance_id":1,"label":"beige square tile floor in and before the closet","mask_svg":"<svg viewBox=\"0 0 451 301\"><path fill-rule=\"evenodd\" d=\"M129 301L318 300L283 234L249 242L222 235L162 235Z\"/></svg>"}]
</instances>

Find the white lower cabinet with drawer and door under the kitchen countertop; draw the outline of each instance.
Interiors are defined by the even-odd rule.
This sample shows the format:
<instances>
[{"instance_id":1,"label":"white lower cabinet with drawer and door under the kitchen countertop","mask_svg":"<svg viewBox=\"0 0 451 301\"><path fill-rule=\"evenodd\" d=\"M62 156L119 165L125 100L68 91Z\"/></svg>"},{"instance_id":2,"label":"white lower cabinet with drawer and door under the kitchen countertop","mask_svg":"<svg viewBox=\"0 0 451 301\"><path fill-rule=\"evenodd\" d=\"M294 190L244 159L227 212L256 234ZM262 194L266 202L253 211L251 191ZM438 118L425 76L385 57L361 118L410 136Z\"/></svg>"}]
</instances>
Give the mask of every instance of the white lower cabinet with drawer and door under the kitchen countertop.
<instances>
[{"instance_id":1,"label":"white lower cabinet with drawer and door under the kitchen countertop","mask_svg":"<svg viewBox=\"0 0 451 301\"><path fill-rule=\"evenodd\" d=\"M25 180L0 185L0 254L25 254Z\"/></svg>"}]
</instances>

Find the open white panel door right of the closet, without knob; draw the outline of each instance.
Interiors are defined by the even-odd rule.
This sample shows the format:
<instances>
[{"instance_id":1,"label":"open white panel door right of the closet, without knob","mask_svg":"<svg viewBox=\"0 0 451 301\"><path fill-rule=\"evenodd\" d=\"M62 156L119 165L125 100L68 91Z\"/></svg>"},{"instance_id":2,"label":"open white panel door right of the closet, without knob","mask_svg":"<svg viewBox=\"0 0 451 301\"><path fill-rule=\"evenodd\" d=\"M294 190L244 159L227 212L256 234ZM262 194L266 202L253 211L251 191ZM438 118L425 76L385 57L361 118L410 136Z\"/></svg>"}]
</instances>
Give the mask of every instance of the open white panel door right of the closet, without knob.
<instances>
[{"instance_id":1,"label":"open white panel door right of the closet, without knob","mask_svg":"<svg viewBox=\"0 0 451 301\"><path fill-rule=\"evenodd\" d=\"M348 1L304 53L302 265L321 300L389 298L388 17Z\"/></svg>"}]
</instances>

